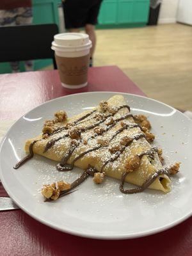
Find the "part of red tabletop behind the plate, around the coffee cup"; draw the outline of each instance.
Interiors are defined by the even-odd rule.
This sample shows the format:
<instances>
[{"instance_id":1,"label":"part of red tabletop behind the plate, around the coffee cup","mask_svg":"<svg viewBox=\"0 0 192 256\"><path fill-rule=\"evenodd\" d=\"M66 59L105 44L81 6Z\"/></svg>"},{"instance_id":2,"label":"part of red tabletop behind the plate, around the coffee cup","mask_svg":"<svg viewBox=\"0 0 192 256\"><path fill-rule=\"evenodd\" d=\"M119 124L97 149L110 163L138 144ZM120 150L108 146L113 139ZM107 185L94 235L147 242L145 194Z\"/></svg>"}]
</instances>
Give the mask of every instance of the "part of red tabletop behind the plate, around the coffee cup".
<instances>
[{"instance_id":1,"label":"part of red tabletop behind the plate, around the coffee cup","mask_svg":"<svg viewBox=\"0 0 192 256\"><path fill-rule=\"evenodd\" d=\"M47 100L72 93L109 91L145 95L118 67L90 68L88 75L89 85L77 90L63 88L57 70L0 75L0 120L15 120Z\"/></svg>"}]
</instances>

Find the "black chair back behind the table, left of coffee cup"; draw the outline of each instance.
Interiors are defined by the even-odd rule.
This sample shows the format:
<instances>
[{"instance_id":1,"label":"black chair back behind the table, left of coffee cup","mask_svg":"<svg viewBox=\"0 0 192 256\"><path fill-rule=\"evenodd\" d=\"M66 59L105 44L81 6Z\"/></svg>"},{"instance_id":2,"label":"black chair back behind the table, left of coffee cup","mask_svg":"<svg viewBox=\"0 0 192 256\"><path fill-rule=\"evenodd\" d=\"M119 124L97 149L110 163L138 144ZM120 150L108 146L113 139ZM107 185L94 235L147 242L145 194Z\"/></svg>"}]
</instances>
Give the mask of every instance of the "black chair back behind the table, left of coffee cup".
<instances>
[{"instance_id":1,"label":"black chair back behind the table, left of coffee cup","mask_svg":"<svg viewBox=\"0 0 192 256\"><path fill-rule=\"evenodd\" d=\"M51 42L58 34L56 24L0 26L0 62L52 59Z\"/></svg>"}]
</instances>

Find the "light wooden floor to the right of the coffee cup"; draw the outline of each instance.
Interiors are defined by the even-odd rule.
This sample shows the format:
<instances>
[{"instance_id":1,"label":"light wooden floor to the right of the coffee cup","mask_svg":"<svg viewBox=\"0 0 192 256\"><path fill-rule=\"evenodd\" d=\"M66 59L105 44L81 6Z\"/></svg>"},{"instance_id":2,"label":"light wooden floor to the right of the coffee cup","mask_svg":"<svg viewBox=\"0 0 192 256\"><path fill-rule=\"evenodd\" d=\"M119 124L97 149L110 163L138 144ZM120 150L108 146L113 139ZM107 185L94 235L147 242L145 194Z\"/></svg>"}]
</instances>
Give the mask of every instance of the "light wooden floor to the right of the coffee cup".
<instances>
[{"instance_id":1,"label":"light wooden floor to the right of the coffee cup","mask_svg":"<svg viewBox=\"0 0 192 256\"><path fill-rule=\"evenodd\" d=\"M148 97L192 111L192 26L97 30L94 65L117 65Z\"/></svg>"}]
</instances>

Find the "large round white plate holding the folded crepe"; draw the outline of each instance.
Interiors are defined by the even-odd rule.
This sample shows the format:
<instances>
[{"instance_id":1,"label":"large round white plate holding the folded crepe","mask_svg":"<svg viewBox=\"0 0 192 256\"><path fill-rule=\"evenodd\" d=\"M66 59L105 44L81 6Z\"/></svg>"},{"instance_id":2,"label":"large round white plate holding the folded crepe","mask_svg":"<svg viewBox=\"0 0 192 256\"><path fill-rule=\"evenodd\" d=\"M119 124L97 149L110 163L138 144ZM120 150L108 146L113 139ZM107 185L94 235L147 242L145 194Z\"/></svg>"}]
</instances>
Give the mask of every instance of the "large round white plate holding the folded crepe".
<instances>
[{"instance_id":1,"label":"large round white plate holding the folded crepe","mask_svg":"<svg viewBox=\"0 0 192 256\"><path fill-rule=\"evenodd\" d=\"M15 203L36 220L63 232L99 239L125 239L154 234L177 225L191 216L192 205L192 122L179 111L156 100L124 95L133 113L149 116L156 143L164 151L166 163L182 162L168 194L147 189L143 193L120 193L119 181L107 178L93 184L88 178L78 190L56 202L44 202L43 184L64 179L72 182L82 172L61 173L56 163L35 156L18 170L14 164L25 155L24 141L39 134L45 119L58 109L72 116L91 109L113 92L79 93L51 100L22 116L1 143L0 175L3 186Z\"/></svg>"}]
</instances>

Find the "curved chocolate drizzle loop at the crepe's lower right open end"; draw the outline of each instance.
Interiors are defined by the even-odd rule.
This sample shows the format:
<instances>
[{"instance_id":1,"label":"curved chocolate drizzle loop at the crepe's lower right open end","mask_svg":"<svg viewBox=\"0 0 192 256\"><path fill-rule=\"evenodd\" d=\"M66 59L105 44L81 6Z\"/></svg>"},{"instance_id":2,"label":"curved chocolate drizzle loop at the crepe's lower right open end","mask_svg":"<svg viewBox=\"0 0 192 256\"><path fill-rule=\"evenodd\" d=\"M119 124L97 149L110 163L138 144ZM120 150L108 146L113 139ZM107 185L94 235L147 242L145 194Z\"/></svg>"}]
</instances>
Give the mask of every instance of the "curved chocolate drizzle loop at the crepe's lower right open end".
<instances>
[{"instance_id":1,"label":"curved chocolate drizzle loop at the crepe's lower right open end","mask_svg":"<svg viewBox=\"0 0 192 256\"><path fill-rule=\"evenodd\" d=\"M157 179L157 177L159 177L159 175L162 175L162 174L169 175L169 169L170 169L169 167L165 167L161 170L158 170L151 177L149 177L147 180L145 180L145 182L143 183L142 186L140 186L138 188L133 188L133 189L124 189L125 178L127 177L127 174L128 174L127 172L124 172L122 174L122 179L121 179L121 183L120 183L120 191L124 194L140 193L143 190L147 189L148 186L150 186Z\"/></svg>"}]
</instances>

